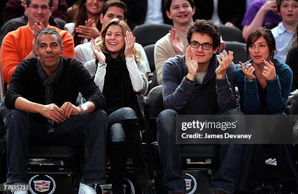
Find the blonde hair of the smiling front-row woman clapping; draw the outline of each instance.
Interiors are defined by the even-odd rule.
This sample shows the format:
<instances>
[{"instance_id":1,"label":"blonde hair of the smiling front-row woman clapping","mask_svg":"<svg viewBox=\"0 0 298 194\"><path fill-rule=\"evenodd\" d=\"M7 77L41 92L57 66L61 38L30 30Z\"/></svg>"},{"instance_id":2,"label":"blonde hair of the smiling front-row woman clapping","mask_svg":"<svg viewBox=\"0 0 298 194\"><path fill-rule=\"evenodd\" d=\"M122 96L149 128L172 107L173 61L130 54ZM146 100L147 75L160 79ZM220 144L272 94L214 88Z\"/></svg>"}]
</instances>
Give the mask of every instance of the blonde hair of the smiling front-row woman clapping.
<instances>
[{"instance_id":1,"label":"blonde hair of the smiling front-row woman clapping","mask_svg":"<svg viewBox=\"0 0 298 194\"><path fill-rule=\"evenodd\" d=\"M106 34L107 34L107 31L108 31L108 28L112 25L121 26L122 34L124 36L125 36L126 31L131 32L130 27L127 25L127 23L125 21L119 20L117 18L112 19L105 27L103 27L103 29L101 30L101 33L100 33L100 38L98 38L98 40L96 42L96 48L100 48L103 53L108 53L108 54L111 53L106 47L105 39L106 39ZM120 55L123 58L123 60L125 60L124 51L125 51L125 46L120 51ZM134 60L136 62L141 61L141 54L140 54L140 51L138 49L136 49L134 47L133 50L132 50L132 54L134 55Z\"/></svg>"}]
</instances>

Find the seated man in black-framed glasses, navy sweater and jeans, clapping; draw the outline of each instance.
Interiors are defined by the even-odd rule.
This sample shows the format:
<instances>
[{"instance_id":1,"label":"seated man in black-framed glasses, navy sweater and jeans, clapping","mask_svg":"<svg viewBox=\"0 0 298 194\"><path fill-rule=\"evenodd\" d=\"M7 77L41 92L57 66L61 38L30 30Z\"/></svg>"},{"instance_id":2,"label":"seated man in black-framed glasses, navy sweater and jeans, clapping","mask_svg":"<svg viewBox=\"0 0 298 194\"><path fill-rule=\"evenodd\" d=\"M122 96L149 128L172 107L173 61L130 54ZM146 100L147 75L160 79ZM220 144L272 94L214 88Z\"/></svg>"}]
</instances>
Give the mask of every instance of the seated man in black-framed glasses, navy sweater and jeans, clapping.
<instances>
[{"instance_id":1,"label":"seated man in black-framed glasses, navy sweater and jeans, clapping","mask_svg":"<svg viewBox=\"0 0 298 194\"><path fill-rule=\"evenodd\" d=\"M196 20L187 31L185 55L169 58L163 67L166 110L157 118L159 157L169 194L186 194L180 144L176 144L177 115L238 114L233 52L220 48L220 30L211 20ZM237 188L242 144L222 144L219 170L212 179L214 194L233 194Z\"/></svg>"}]
</instances>

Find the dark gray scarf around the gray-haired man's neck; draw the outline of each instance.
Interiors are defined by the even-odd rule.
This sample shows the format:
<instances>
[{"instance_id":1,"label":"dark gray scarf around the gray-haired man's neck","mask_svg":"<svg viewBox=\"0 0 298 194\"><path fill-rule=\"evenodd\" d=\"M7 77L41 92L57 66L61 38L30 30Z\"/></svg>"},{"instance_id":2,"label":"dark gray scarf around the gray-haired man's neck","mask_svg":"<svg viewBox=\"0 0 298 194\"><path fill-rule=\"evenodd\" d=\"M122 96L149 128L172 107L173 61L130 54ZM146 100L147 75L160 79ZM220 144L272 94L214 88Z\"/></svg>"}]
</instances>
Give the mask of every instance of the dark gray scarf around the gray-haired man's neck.
<instances>
[{"instance_id":1,"label":"dark gray scarf around the gray-haired man's neck","mask_svg":"<svg viewBox=\"0 0 298 194\"><path fill-rule=\"evenodd\" d=\"M60 63L56 71L50 76L46 74L46 72L42 69L40 64L39 57L37 58L37 71L40 79L42 80L42 85L45 87L45 104L49 105L54 103L54 89L53 86L57 84L60 79L60 76L63 72L63 59L60 57ZM53 133L55 128L53 127L54 121L48 119L48 134Z\"/></svg>"}]
</instances>

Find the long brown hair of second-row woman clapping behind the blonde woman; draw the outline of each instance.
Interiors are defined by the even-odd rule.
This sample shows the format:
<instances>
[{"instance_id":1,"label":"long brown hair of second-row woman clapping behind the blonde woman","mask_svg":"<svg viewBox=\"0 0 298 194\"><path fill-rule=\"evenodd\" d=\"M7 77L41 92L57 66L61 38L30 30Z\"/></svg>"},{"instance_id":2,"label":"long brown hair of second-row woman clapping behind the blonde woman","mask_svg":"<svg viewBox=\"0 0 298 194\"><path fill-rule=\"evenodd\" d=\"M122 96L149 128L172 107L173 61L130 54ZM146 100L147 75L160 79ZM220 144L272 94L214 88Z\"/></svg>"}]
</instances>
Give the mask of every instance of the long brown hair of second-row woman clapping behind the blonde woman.
<instances>
[{"instance_id":1,"label":"long brown hair of second-row woman clapping behind the blonde woman","mask_svg":"<svg viewBox=\"0 0 298 194\"><path fill-rule=\"evenodd\" d=\"M101 1L105 1L105 0L101 0ZM74 18L74 23L75 23L75 28L78 27L79 25L85 26L85 21L88 20L88 15L87 15L87 9L85 6L86 0L78 0L77 1L77 12L75 14L75 18ZM98 13L98 18L101 14L101 11ZM100 30L101 29L101 23L98 21L97 24L97 29ZM77 35L79 33L75 32L75 28L74 28L74 42L75 42L75 46L82 44L82 41L84 38L82 37L78 37Z\"/></svg>"}]
</instances>

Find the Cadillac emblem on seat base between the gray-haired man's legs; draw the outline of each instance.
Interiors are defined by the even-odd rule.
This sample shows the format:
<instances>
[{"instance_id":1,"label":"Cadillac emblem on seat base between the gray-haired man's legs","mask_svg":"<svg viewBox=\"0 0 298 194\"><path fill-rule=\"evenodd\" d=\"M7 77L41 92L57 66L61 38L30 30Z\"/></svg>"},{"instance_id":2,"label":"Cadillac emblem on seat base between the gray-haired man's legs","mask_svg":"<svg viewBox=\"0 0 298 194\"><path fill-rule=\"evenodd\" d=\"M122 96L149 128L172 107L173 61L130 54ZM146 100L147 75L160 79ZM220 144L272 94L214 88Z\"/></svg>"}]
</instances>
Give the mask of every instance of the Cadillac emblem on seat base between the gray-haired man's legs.
<instances>
[{"instance_id":1,"label":"Cadillac emblem on seat base between the gray-haired man's legs","mask_svg":"<svg viewBox=\"0 0 298 194\"><path fill-rule=\"evenodd\" d=\"M32 194L53 194L56 189L55 180L48 175L33 176L29 181L29 190ZM38 178L37 178L38 177ZM34 183L34 184L33 184Z\"/></svg>"}]
</instances>

